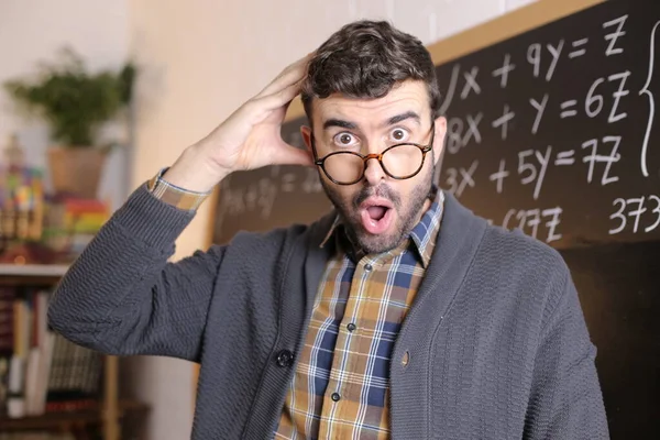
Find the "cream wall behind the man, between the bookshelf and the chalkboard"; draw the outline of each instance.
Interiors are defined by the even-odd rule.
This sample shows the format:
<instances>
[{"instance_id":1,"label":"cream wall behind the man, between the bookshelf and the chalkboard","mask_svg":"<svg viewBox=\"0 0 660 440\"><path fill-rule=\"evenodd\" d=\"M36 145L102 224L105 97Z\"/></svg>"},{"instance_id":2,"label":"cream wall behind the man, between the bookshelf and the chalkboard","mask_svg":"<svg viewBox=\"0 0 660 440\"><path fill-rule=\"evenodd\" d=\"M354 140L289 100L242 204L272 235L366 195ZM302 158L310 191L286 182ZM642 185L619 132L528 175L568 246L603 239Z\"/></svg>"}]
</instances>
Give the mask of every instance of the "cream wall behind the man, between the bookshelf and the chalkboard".
<instances>
[{"instance_id":1,"label":"cream wall behind the man, between the bookshelf and the chalkboard","mask_svg":"<svg viewBox=\"0 0 660 440\"><path fill-rule=\"evenodd\" d=\"M432 43L529 0L163 0L130 1L131 53L138 87L132 184L172 164L282 68L312 51L342 24L382 18ZM210 206L202 206L177 242L176 258L207 245ZM142 395L154 408L152 439L186 438L190 420L178 361L142 359ZM146 374L148 372L148 374ZM188 382L186 382L188 381ZM177 384L163 387L163 383ZM190 389L193 394L193 389Z\"/></svg>"}]
</instances>

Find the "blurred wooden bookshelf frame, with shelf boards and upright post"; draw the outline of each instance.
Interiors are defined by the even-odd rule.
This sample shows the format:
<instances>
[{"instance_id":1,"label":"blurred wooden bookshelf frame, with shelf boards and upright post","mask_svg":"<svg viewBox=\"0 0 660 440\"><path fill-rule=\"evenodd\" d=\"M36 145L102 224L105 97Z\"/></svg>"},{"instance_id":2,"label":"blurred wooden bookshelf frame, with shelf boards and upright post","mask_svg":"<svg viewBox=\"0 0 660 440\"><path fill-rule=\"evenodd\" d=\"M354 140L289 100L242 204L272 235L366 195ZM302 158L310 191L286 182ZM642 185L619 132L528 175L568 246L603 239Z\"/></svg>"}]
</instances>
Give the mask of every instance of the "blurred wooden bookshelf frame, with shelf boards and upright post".
<instances>
[{"instance_id":1,"label":"blurred wooden bookshelf frame, with shelf boards and upright post","mask_svg":"<svg viewBox=\"0 0 660 440\"><path fill-rule=\"evenodd\" d=\"M66 273L68 265L0 264L0 286L54 287ZM119 359L103 355L101 399L80 409L46 411L38 416L10 418L0 415L0 437L8 432L48 430L76 432L89 426L100 426L103 440L119 440L122 420L129 417L143 419L148 407L133 400L119 398ZM82 437L85 438L85 437Z\"/></svg>"}]
</instances>

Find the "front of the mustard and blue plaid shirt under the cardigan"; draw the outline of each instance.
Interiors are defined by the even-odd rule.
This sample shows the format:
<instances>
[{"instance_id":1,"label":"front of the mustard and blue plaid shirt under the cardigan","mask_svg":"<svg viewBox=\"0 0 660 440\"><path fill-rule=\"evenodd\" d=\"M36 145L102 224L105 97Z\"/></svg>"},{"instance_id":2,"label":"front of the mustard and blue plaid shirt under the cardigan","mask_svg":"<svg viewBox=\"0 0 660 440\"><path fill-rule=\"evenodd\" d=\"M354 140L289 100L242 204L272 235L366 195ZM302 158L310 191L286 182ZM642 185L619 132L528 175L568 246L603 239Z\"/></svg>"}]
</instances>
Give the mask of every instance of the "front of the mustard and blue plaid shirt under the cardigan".
<instances>
[{"instance_id":1,"label":"front of the mustard and blue plaid shirt under the cardigan","mask_svg":"<svg viewBox=\"0 0 660 440\"><path fill-rule=\"evenodd\" d=\"M431 260L443 201L438 190L408 240L356 264L336 222L329 238L337 252L319 285L275 439L389 438L392 350Z\"/></svg>"}]
</instances>

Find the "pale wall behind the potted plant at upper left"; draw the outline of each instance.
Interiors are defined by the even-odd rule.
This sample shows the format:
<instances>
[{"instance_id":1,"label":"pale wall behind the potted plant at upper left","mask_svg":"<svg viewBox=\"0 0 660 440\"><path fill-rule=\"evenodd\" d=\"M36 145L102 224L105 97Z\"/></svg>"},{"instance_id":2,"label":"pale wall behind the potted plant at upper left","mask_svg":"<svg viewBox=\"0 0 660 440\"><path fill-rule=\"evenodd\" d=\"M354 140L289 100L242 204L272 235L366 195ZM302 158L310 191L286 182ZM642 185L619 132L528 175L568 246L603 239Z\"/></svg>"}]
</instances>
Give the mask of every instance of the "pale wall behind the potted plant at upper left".
<instances>
[{"instance_id":1,"label":"pale wall behind the potted plant at upper left","mask_svg":"<svg viewBox=\"0 0 660 440\"><path fill-rule=\"evenodd\" d=\"M70 45L91 70L118 68L127 59L128 7L124 0L2 0L0 1L0 84L32 75L36 64L54 61L63 45ZM46 127L15 114L13 102L0 91L0 150L10 133L18 133L28 160L46 165ZM112 130L112 134L121 134ZM99 196L114 206L125 198L130 152L116 150L109 157ZM0 152L1 153L1 152ZM0 160L2 155L0 154ZM47 176L46 176L47 177Z\"/></svg>"}]
</instances>

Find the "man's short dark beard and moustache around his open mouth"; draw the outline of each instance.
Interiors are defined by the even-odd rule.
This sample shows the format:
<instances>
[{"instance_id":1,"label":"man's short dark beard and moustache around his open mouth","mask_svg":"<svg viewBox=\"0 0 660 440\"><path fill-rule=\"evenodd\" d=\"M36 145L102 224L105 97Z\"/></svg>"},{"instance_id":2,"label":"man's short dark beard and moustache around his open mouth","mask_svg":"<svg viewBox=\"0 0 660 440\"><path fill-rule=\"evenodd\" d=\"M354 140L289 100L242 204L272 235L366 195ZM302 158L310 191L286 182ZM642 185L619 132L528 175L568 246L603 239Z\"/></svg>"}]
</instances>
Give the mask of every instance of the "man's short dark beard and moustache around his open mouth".
<instances>
[{"instance_id":1,"label":"man's short dark beard and moustache around his open mouth","mask_svg":"<svg viewBox=\"0 0 660 440\"><path fill-rule=\"evenodd\" d=\"M421 176L420 176L421 177ZM427 173L420 178L407 200L387 184L378 186L363 186L351 200L345 200L333 184L321 178L326 195L334 205L345 226L346 234L351 243L359 248L364 254L383 253L397 248L408 238L410 231L421 217L421 209L432 188L433 167L427 168ZM369 197L377 196L389 200L396 212L394 231L382 234L371 234L362 226L360 205Z\"/></svg>"}]
</instances>

